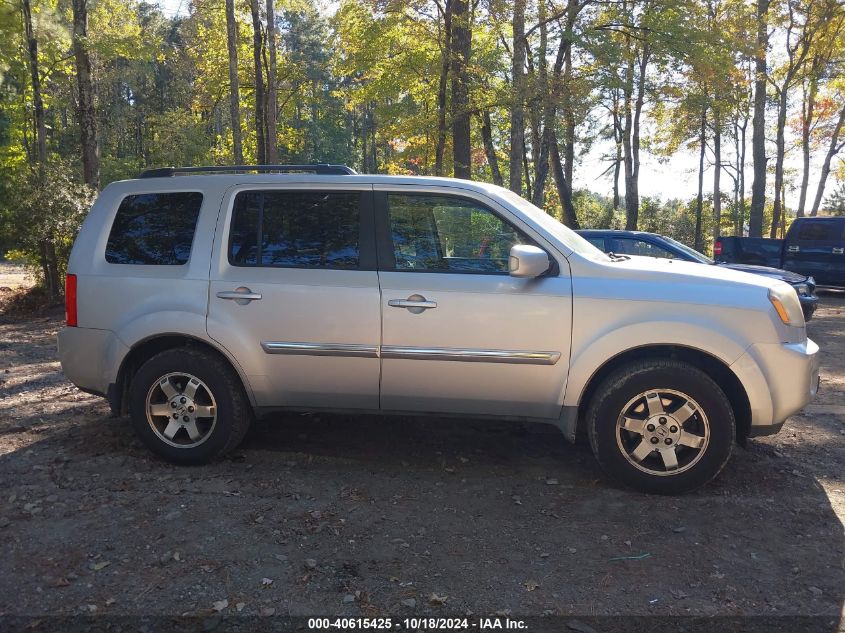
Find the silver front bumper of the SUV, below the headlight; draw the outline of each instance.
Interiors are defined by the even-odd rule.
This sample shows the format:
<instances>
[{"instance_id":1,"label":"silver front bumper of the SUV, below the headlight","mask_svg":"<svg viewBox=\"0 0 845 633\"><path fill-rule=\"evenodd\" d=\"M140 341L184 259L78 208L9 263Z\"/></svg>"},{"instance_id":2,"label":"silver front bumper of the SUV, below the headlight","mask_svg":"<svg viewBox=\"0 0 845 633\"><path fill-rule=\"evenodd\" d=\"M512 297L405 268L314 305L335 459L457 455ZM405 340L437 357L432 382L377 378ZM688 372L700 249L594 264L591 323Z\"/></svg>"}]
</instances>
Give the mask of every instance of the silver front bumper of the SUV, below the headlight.
<instances>
[{"instance_id":1,"label":"silver front bumper of the SUV, below the headlight","mask_svg":"<svg viewBox=\"0 0 845 633\"><path fill-rule=\"evenodd\" d=\"M819 386L819 346L802 343L752 345L733 368L751 404L749 436L772 435L800 411Z\"/></svg>"}]
</instances>

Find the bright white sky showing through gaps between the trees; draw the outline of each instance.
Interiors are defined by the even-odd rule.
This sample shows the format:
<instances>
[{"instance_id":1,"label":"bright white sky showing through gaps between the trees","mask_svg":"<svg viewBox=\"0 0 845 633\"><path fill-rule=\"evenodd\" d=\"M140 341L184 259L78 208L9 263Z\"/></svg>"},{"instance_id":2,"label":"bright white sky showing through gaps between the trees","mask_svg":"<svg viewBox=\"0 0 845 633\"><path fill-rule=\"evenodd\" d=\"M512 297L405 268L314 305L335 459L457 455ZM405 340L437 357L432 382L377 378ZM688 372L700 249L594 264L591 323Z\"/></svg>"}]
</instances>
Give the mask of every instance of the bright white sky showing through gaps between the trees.
<instances>
[{"instance_id":1,"label":"bright white sky showing through gaps between the trees","mask_svg":"<svg viewBox=\"0 0 845 633\"><path fill-rule=\"evenodd\" d=\"M186 14L190 0L159 0L158 4L168 16ZM326 5L333 4L333 0L325 0ZM328 9L325 9L328 10ZM751 157L751 129L748 130L748 147L746 156L750 161ZM728 147L725 147L728 145ZM731 160L732 144L723 142L722 160ZM580 163L574 171L574 185L576 189L584 188L602 195L611 195L613 192L612 173L602 175L607 169L608 163L602 161L602 156L613 153L612 143L595 143L591 150L580 157ZM800 173L799 151L797 148L787 153L786 168L794 169ZM812 200L815 195L816 186L820 172L820 161L811 163L810 186L808 198ZM707 165L707 163L705 163ZM751 165L746 165L745 179L750 197L751 181L753 174ZM796 177L797 179L797 177ZM828 179L826 193L829 193L834 186L833 175ZM624 178L620 177L620 192L624 193ZM722 174L722 192L732 195L733 181L726 173ZM663 200L680 198L688 200L694 197L698 190L698 153L692 150L681 150L675 153L670 159L658 160L657 157L641 152L640 156L640 196L656 196ZM705 195L713 190L713 168L708 166L704 174ZM786 191L787 207L794 209L798 203L798 191Z\"/></svg>"}]
</instances>

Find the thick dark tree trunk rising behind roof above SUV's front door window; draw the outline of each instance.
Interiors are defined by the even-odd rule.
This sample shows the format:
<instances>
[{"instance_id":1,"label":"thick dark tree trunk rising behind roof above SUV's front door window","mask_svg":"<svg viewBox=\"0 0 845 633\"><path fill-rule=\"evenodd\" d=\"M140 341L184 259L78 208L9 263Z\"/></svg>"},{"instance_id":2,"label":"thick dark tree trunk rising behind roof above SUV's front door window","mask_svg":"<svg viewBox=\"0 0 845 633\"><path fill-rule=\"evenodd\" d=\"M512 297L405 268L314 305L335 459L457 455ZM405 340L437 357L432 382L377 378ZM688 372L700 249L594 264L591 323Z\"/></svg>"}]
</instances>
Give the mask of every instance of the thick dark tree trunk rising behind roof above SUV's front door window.
<instances>
[{"instance_id":1,"label":"thick dark tree trunk rising behind roof above SUV's front door window","mask_svg":"<svg viewBox=\"0 0 845 633\"><path fill-rule=\"evenodd\" d=\"M455 178L471 179L472 146L467 64L472 53L472 13L468 0L454 0L452 35L452 157L455 163Z\"/></svg>"}]
</instances>

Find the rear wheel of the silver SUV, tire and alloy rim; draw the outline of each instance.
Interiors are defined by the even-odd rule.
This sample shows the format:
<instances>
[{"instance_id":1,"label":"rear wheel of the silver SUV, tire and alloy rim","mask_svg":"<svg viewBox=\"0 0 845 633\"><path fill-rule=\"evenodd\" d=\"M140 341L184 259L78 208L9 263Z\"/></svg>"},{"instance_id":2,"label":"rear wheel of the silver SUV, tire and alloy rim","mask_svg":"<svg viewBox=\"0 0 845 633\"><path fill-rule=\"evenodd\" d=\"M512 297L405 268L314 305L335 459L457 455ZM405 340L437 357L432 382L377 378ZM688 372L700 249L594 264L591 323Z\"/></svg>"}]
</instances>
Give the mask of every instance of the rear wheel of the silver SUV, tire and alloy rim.
<instances>
[{"instance_id":1,"label":"rear wheel of the silver SUV, tire and alloy rim","mask_svg":"<svg viewBox=\"0 0 845 633\"><path fill-rule=\"evenodd\" d=\"M208 352L178 348L156 354L135 374L129 415L135 432L160 457L203 464L241 443L252 408L228 363Z\"/></svg>"}]
</instances>

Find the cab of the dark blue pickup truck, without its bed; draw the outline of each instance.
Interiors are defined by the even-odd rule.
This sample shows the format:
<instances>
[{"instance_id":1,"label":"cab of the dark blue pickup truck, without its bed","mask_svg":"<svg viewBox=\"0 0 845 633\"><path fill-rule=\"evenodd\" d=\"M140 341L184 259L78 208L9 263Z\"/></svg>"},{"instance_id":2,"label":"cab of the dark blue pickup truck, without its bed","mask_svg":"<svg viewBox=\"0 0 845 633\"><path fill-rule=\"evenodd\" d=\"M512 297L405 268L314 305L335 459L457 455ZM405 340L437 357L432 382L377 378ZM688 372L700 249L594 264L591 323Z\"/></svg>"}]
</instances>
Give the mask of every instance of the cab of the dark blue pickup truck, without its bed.
<instances>
[{"instance_id":1,"label":"cab of the dark blue pickup truck, without its bed","mask_svg":"<svg viewBox=\"0 0 845 633\"><path fill-rule=\"evenodd\" d=\"M845 285L845 219L802 218L789 228L783 267L821 285Z\"/></svg>"}]
</instances>

